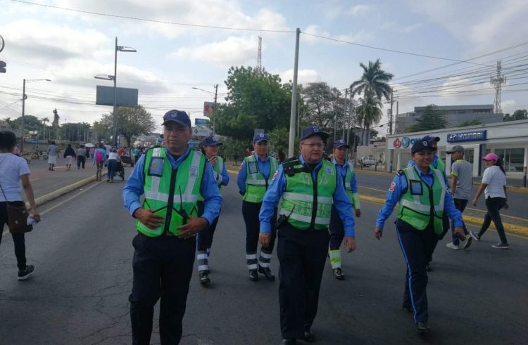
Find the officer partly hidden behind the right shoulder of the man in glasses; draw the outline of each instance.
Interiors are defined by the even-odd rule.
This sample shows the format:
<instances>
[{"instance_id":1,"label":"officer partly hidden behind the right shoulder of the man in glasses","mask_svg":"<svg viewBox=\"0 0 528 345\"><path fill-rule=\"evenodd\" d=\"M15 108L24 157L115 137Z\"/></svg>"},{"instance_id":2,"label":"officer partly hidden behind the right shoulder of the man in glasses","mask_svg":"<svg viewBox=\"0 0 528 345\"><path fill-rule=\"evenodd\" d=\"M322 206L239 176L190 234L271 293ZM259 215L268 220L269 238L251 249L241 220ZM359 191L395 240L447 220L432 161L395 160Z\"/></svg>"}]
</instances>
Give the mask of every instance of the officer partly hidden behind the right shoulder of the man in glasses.
<instances>
[{"instance_id":1,"label":"officer partly hidden behind the right shoulder of the man in glasses","mask_svg":"<svg viewBox=\"0 0 528 345\"><path fill-rule=\"evenodd\" d=\"M357 218L361 216L361 204L358 193L358 181L356 180L356 174L354 168L350 163L346 161L346 152L350 146L343 139L339 139L334 143L332 164L337 169L338 176L343 180L343 186L345 188L348 200L352 203L354 213ZM344 280L345 275L341 269L341 242L345 235L344 224L339 217L339 211L332 204L332 214L330 216L330 243L328 249L328 256L330 258L330 264L332 265L332 274L334 278Z\"/></svg>"}]
</instances>

